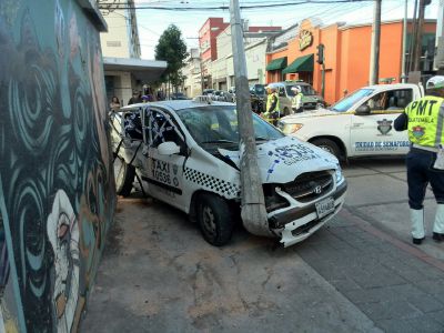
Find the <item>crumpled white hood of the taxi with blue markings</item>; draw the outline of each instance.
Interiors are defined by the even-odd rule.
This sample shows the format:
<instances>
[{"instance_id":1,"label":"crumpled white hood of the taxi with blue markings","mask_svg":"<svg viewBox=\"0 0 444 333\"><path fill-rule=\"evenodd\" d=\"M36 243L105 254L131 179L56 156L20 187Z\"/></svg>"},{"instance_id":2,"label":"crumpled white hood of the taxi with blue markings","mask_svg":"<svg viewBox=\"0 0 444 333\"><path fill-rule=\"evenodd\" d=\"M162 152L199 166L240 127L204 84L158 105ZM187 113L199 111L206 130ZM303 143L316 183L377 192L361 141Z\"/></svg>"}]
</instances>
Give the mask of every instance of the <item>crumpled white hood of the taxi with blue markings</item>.
<instances>
[{"instance_id":1,"label":"crumpled white hood of the taxi with blue markings","mask_svg":"<svg viewBox=\"0 0 444 333\"><path fill-rule=\"evenodd\" d=\"M219 152L240 165L240 151L219 149ZM301 173L335 170L339 165L329 152L292 137L258 144L256 152L262 183L287 183Z\"/></svg>"}]
</instances>

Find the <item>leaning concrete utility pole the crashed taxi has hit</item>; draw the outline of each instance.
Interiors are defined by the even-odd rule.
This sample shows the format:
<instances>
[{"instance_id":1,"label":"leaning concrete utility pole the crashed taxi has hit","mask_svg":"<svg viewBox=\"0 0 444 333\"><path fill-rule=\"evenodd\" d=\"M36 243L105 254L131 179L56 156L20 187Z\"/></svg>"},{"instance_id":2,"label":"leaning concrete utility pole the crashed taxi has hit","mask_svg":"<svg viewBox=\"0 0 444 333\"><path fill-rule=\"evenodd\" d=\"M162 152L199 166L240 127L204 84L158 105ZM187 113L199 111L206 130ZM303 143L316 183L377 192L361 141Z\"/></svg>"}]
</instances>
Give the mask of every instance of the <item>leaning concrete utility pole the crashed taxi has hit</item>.
<instances>
[{"instance_id":1,"label":"leaning concrete utility pole the crashed taxi has hit","mask_svg":"<svg viewBox=\"0 0 444 333\"><path fill-rule=\"evenodd\" d=\"M246 77L245 49L243 46L241 10L239 0L230 1L231 36L235 73L238 127L241 154L242 210L245 229L256 235L270 235Z\"/></svg>"}]
</instances>

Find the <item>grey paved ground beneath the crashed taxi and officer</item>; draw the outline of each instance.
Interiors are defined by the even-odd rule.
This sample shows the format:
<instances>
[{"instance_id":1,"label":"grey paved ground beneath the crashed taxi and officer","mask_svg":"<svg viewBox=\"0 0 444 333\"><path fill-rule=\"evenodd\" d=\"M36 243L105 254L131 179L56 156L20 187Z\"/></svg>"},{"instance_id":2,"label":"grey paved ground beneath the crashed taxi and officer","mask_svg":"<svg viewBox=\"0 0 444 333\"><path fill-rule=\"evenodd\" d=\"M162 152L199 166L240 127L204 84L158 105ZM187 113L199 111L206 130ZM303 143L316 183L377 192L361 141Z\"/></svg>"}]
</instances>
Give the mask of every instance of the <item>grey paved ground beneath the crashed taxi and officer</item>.
<instances>
[{"instance_id":1,"label":"grey paved ground beneath the crashed taxi and officer","mask_svg":"<svg viewBox=\"0 0 444 333\"><path fill-rule=\"evenodd\" d=\"M444 332L444 244L411 244L403 161L344 167L343 211L282 249L209 245L165 204L121 199L83 332Z\"/></svg>"}]
</instances>

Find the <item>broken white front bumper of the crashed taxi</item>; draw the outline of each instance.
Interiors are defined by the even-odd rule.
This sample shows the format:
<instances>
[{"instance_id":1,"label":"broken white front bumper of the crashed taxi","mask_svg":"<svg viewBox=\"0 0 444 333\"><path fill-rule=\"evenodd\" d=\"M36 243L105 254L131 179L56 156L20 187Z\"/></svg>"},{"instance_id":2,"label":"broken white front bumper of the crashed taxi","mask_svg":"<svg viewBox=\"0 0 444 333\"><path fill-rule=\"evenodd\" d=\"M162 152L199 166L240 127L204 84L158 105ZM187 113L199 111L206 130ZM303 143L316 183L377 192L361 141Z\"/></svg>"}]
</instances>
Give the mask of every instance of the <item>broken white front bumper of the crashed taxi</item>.
<instances>
[{"instance_id":1,"label":"broken white front bumper of the crashed taxi","mask_svg":"<svg viewBox=\"0 0 444 333\"><path fill-rule=\"evenodd\" d=\"M269 214L270 229L280 235L280 242L285 248L305 240L341 210L346 188L344 180L335 191L309 204L301 204L289 194L280 193L292 204L285 210Z\"/></svg>"}]
</instances>

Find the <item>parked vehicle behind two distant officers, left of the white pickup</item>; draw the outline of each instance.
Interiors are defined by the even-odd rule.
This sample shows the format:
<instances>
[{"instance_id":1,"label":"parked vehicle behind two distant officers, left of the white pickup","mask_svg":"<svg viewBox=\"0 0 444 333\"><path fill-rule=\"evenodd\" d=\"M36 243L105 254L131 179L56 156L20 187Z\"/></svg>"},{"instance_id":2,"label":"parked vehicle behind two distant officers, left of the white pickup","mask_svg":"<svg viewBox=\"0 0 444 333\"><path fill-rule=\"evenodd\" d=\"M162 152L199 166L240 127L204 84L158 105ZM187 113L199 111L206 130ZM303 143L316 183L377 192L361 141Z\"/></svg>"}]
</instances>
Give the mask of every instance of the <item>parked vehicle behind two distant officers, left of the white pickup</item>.
<instances>
[{"instance_id":1,"label":"parked vehicle behind two distant officers, left of the white pickup","mask_svg":"<svg viewBox=\"0 0 444 333\"><path fill-rule=\"evenodd\" d=\"M274 82L269 83L268 87L278 90L281 110L285 115L296 111L293 87L299 87L303 93L302 104L304 110L315 110L325 105L323 98L316 93L313 87L303 81Z\"/></svg>"}]
</instances>

